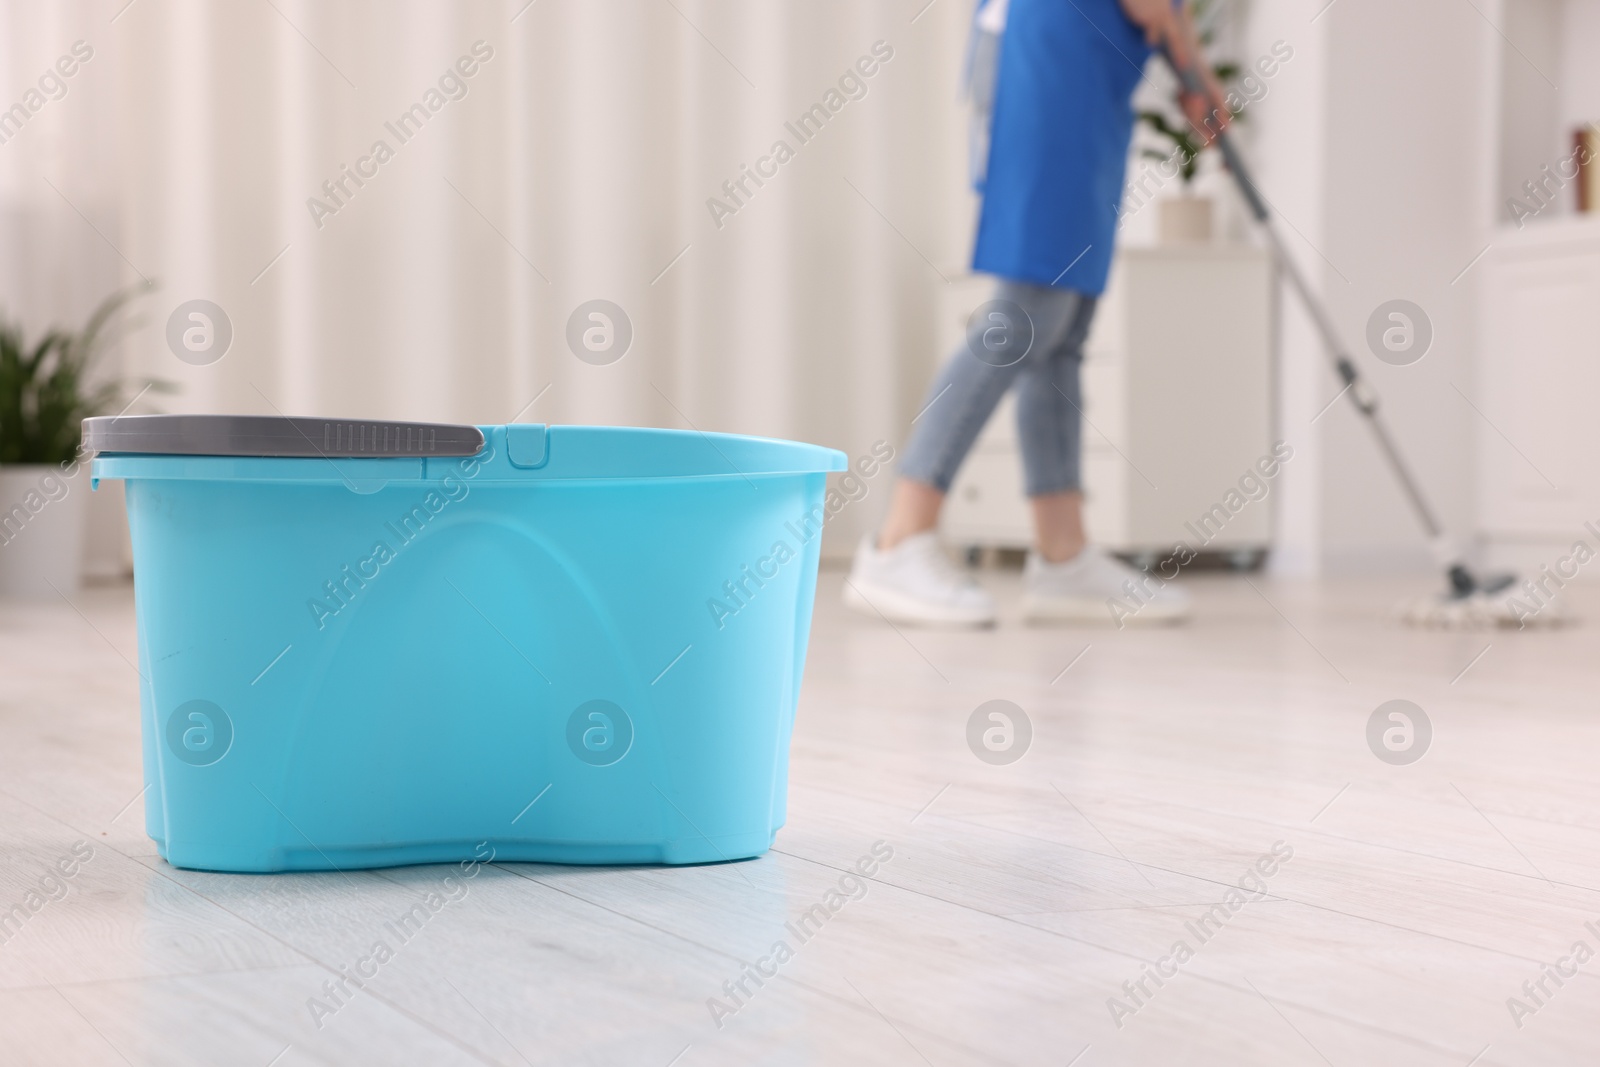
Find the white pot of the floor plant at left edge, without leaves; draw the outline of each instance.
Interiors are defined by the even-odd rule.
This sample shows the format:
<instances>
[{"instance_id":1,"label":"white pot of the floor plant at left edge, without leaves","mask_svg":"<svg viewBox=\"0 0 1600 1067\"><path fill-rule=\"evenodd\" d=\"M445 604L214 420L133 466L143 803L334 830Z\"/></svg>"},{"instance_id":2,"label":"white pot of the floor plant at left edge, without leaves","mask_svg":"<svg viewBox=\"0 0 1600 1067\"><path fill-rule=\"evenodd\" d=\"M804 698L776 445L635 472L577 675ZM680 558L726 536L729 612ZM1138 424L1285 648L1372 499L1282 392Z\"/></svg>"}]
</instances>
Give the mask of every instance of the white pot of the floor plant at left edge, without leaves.
<instances>
[{"instance_id":1,"label":"white pot of the floor plant at left edge, without leaves","mask_svg":"<svg viewBox=\"0 0 1600 1067\"><path fill-rule=\"evenodd\" d=\"M88 464L0 467L0 597L77 592L88 496Z\"/></svg>"}]
</instances>

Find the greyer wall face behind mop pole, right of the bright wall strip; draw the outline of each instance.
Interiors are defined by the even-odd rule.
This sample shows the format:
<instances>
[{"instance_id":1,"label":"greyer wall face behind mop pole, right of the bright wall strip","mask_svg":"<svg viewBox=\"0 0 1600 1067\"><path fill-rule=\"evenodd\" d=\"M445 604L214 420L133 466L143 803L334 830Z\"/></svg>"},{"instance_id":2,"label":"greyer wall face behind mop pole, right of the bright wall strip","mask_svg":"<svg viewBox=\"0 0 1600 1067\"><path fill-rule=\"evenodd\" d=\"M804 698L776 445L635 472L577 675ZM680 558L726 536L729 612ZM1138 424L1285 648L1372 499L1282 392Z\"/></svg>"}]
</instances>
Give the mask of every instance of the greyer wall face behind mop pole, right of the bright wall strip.
<instances>
[{"instance_id":1,"label":"greyer wall face behind mop pole, right of the bright wall strip","mask_svg":"<svg viewBox=\"0 0 1600 1067\"><path fill-rule=\"evenodd\" d=\"M1475 395L1475 354L1472 288L1458 275L1486 243L1474 107L1482 22L1453 0L1354 0L1328 19L1326 254L1349 283L1326 274L1325 283L1442 522L1469 534L1478 416L1461 395ZM1432 320L1419 363L1390 366L1365 346L1368 315L1389 299L1414 301ZM1427 566L1416 520L1360 418L1344 405L1318 426L1330 566Z\"/></svg>"}]
</instances>

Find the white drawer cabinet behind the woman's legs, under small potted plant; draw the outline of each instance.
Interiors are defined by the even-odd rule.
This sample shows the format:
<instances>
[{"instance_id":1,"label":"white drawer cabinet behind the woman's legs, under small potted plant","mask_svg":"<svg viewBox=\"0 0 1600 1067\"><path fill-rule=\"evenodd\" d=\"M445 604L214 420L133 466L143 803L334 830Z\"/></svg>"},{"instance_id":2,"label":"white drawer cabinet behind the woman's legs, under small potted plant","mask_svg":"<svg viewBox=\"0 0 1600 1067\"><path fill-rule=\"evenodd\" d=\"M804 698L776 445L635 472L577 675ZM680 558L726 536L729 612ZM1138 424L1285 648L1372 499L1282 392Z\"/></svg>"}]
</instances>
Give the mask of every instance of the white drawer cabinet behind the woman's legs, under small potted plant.
<instances>
[{"instance_id":1,"label":"white drawer cabinet behind the woman's legs, under small potted plant","mask_svg":"<svg viewBox=\"0 0 1600 1067\"><path fill-rule=\"evenodd\" d=\"M944 349L994 296L994 278L947 291ZM1083 491L1090 537L1115 552L1198 547L1197 522L1272 450L1272 270L1234 245L1130 248L1117 256L1083 362ZM1205 545L1258 552L1269 501L1234 514ZM954 545L1032 541L1011 397L963 464L944 509Z\"/></svg>"}]
</instances>

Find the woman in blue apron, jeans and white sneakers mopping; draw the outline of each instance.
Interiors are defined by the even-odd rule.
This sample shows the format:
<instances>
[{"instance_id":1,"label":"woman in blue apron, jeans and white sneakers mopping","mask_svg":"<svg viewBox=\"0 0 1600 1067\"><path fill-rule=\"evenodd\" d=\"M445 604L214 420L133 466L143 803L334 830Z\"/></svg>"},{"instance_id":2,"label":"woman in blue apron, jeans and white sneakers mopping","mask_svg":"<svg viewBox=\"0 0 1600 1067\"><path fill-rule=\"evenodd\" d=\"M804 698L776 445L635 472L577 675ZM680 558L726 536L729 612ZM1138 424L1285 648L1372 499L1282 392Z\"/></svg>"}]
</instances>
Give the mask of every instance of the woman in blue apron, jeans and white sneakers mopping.
<instances>
[{"instance_id":1,"label":"woman in blue apron, jeans and white sneakers mopping","mask_svg":"<svg viewBox=\"0 0 1600 1067\"><path fill-rule=\"evenodd\" d=\"M1018 438L1035 544L1024 566L1029 621L1102 621L1131 581L1139 621L1189 614L1186 593L1134 571L1083 536L1083 341L1106 288L1133 136L1133 91L1157 48L1198 56L1187 10L1171 0L984 0L973 99L982 213L973 270L1000 278L928 392L888 517L856 552L845 601L874 617L989 625L994 600L957 568L934 528L950 482L1000 397L1016 389ZM1227 123L1222 94L1184 94L1202 136Z\"/></svg>"}]
</instances>

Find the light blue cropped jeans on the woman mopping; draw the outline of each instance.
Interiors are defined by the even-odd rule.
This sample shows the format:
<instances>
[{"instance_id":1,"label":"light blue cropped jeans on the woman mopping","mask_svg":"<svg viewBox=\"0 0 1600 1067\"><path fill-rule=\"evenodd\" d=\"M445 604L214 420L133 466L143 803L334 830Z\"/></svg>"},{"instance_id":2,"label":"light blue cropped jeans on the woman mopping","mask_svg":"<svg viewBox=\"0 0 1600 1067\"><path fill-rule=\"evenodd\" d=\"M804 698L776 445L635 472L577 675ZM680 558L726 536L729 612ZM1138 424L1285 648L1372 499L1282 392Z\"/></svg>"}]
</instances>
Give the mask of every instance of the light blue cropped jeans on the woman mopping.
<instances>
[{"instance_id":1,"label":"light blue cropped jeans on the woman mopping","mask_svg":"<svg viewBox=\"0 0 1600 1067\"><path fill-rule=\"evenodd\" d=\"M1083 421L1078 376L1093 318L1093 296L1000 282L933 382L906 446L901 477L949 493L1000 397L1016 386L1027 494L1078 490Z\"/></svg>"}]
</instances>

